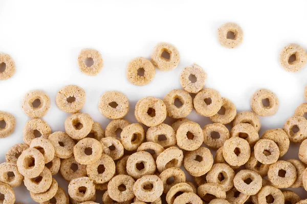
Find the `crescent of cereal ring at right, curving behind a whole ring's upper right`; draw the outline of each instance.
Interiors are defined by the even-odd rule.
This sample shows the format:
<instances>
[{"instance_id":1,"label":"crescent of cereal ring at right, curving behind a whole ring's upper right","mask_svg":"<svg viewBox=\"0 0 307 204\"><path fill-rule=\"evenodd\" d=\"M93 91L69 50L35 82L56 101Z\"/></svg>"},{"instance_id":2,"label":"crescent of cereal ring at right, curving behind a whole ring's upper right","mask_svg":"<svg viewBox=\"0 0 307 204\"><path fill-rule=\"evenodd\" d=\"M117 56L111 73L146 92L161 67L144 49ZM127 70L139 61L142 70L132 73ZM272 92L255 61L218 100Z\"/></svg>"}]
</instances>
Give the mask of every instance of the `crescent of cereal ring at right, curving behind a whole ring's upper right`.
<instances>
[{"instance_id":1,"label":"crescent of cereal ring at right, curving behind a whole ring's upper right","mask_svg":"<svg viewBox=\"0 0 307 204\"><path fill-rule=\"evenodd\" d=\"M262 134L261 139L273 140L277 144L279 148L279 158L284 156L289 149L289 137L287 133L280 128L267 130L264 134Z\"/></svg>"}]
</instances>

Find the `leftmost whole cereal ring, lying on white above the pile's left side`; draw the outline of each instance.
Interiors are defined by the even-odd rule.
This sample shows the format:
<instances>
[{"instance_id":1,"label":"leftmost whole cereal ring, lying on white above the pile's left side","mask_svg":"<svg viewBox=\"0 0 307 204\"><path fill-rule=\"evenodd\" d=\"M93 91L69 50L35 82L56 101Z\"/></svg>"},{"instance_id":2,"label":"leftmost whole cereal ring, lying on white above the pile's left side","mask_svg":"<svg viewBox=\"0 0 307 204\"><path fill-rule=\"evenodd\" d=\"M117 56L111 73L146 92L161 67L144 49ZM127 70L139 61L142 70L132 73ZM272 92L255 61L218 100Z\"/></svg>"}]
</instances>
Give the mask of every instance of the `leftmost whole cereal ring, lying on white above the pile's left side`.
<instances>
[{"instance_id":1,"label":"leftmost whole cereal ring, lying on white above the pile's left side","mask_svg":"<svg viewBox=\"0 0 307 204\"><path fill-rule=\"evenodd\" d=\"M40 118L49 110L50 98L45 91L29 91L23 98L21 108L30 118Z\"/></svg>"}]
</instances>

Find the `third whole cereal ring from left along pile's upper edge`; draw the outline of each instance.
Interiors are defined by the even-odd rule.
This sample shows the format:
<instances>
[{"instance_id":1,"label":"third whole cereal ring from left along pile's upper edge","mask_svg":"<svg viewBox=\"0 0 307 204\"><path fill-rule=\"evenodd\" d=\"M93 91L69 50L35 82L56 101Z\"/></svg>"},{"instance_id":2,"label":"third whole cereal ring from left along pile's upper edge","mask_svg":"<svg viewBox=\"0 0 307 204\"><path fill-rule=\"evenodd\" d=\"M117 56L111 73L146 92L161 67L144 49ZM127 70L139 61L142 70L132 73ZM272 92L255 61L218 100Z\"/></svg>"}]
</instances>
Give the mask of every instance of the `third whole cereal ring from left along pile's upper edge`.
<instances>
[{"instance_id":1,"label":"third whole cereal ring from left along pile's upper edge","mask_svg":"<svg viewBox=\"0 0 307 204\"><path fill-rule=\"evenodd\" d=\"M129 111L128 98L119 91L107 91L100 96L100 113L110 119L123 118Z\"/></svg>"}]
</instances>

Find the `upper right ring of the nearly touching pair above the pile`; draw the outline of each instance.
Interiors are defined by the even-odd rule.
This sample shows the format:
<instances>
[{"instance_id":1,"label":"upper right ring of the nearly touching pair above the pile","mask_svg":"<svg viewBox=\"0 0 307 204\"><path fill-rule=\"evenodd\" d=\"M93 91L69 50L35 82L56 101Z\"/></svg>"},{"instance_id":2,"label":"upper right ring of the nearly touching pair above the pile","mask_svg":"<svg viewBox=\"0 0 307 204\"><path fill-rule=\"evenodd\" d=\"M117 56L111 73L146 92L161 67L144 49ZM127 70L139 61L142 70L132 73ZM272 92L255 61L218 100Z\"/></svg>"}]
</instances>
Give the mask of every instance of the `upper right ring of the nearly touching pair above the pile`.
<instances>
[{"instance_id":1,"label":"upper right ring of the nearly touching pair above the pile","mask_svg":"<svg viewBox=\"0 0 307 204\"><path fill-rule=\"evenodd\" d=\"M166 42L158 43L150 55L152 64L162 71L176 68L180 62L178 49Z\"/></svg>"}]
</instances>

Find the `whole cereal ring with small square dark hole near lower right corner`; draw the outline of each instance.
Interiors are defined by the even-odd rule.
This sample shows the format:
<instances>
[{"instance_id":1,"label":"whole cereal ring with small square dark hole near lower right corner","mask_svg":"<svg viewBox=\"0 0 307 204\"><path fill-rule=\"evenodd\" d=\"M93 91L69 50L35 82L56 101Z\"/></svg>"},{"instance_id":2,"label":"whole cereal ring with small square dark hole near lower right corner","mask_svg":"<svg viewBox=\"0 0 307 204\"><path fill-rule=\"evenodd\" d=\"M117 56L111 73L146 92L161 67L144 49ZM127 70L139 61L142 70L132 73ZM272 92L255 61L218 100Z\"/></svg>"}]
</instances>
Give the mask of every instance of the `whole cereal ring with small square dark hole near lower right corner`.
<instances>
[{"instance_id":1,"label":"whole cereal ring with small square dark hole near lower right corner","mask_svg":"<svg viewBox=\"0 0 307 204\"><path fill-rule=\"evenodd\" d=\"M276 188L289 188L296 178L296 168L292 163L279 160L270 165L268 179Z\"/></svg>"}]
</instances>

